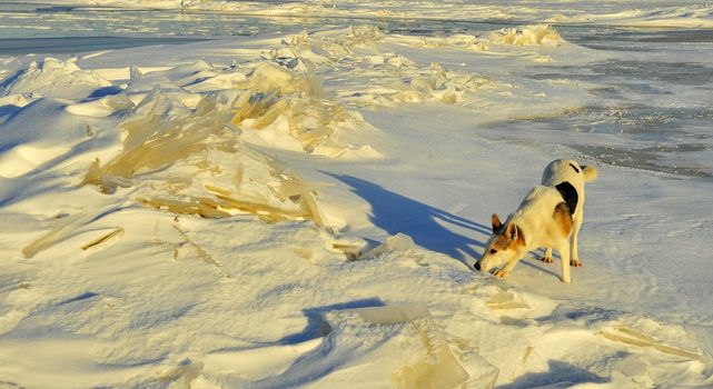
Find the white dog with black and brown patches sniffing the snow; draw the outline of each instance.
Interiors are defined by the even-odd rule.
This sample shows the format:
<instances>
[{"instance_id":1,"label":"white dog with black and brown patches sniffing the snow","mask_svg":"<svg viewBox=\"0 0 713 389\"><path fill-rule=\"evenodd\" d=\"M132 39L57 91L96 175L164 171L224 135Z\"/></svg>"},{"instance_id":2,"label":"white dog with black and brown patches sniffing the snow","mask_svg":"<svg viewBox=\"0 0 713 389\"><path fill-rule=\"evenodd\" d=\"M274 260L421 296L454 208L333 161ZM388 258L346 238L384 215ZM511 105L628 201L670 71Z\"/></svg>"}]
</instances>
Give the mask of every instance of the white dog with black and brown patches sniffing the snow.
<instances>
[{"instance_id":1,"label":"white dog with black and brown patches sniffing the snow","mask_svg":"<svg viewBox=\"0 0 713 389\"><path fill-rule=\"evenodd\" d=\"M492 216L493 236L487 240L475 269L507 277L527 252L545 248L541 258L552 263L552 249L562 257L562 281L572 282L570 266L581 267L577 239L584 218L584 183L596 180L598 170L580 166L574 160L549 162L542 184L527 193L517 210L505 222Z\"/></svg>"}]
</instances>

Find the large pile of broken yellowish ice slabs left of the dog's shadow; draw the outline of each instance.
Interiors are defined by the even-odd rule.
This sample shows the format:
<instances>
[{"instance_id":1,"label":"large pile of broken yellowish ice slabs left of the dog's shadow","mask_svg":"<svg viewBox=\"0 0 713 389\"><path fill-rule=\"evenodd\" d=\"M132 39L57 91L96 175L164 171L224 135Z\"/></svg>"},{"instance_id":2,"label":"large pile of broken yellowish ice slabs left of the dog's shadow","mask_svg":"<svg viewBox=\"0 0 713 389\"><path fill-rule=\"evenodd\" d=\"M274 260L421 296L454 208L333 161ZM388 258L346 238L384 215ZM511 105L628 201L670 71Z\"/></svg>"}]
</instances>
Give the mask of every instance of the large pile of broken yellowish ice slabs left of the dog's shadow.
<instances>
[{"instance_id":1,"label":"large pile of broken yellowish ice slabs left of the dog's shadow","mask_svg":"<svg viewBox=\"0 0 713 389\"><path fill-rule=\"evenodd\" d=\"M311 219L324 225L315 186L239 142L239 133L226 126L229 102L204 99L195 110L175 109L156 89L136 112L119 126L123 150L103 164L95 161L83 184L103 192L138 186L139 202L175 213L221 218L247 212L268 222Z\"/></svg>"}]
</instances>

